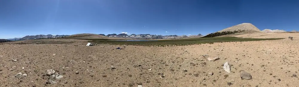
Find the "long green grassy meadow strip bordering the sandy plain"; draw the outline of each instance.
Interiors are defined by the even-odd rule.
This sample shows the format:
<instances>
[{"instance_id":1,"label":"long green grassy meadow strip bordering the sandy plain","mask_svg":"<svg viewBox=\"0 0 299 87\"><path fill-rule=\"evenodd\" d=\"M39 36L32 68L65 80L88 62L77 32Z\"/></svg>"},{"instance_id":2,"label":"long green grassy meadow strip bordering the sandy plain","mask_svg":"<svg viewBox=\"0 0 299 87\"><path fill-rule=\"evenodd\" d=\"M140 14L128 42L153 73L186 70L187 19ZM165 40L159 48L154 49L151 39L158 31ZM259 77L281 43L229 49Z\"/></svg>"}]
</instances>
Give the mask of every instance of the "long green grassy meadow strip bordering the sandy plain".
<instances>
[{"instance_id":1,"label":"long green grassy meadow strip bordering the sandy plain","mask_svg":"<svg viewBox=\"0 0 299 87\"><path fill-rule=\"evenodd\" d=\"M111 39L86 39L89 42L97 44L111 44L111 45L139 45L139 46L180 46L180 45L194 45L194 44L205 44L214 42L242 42L242 41L260 41L260 40L277 40L283 38L268 38L268 39L254 39L254 38L239 38L233 36L226 37L212 37L212 38L191 38L191 39L168 39L158 41L112 41Z\"/></svg>"}]
</instances>

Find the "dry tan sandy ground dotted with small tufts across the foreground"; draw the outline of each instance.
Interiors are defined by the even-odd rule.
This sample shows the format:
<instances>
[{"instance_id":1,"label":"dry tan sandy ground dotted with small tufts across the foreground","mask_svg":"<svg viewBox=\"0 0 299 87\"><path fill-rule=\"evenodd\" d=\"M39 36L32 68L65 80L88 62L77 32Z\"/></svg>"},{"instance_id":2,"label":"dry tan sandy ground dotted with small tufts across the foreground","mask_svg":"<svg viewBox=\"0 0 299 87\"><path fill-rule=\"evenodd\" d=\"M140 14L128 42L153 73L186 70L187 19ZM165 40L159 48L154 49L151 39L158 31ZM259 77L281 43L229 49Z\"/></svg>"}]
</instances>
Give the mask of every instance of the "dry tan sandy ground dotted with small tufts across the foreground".
<instances>
[{"instance_id":1,"label":"dry tan sandy ground dotted with small tufts across the foreground","mask_svg":"<svg viewBox=\"0 0 299 87\"><path fill-rule=\"evenodd\" d=\"M294 34L293 37L299 35L291 34ZM247 36L272 38L267 36L274 35L279 38L289 36L288 33L281 37L276 33ZM40 42L56 41L42 40L44 41ZM35 44L34 41L28 40L23 43L33 44L11 42L1 44L0 86L295 87L299 85L297 39L171 47L104 44L85 46L86 40L59 39L59 41L62 43ZM115 49L117 47L124 49ZM220 51L221 49L223 51ZM203 57L205 54L208 56ZM220 59L206 60L209 57ZM15 59L17 61L13 61ZM225 62L231 65L231 73L223 70ZM111 66L115 68L112 69ZM53 69L63 77L51 78L46 75L48 69ZM187 71L183 71L184 69ZM252 79L242 80L240 70L250 73ZM28 75L14 77L20 72ZM213 72L213 75L209 75L210 72ZM164 78L160 78L163 75ZM47 80L57 83L46 84Z\"/></svg>"}]
</instances>

